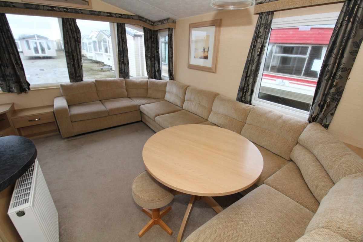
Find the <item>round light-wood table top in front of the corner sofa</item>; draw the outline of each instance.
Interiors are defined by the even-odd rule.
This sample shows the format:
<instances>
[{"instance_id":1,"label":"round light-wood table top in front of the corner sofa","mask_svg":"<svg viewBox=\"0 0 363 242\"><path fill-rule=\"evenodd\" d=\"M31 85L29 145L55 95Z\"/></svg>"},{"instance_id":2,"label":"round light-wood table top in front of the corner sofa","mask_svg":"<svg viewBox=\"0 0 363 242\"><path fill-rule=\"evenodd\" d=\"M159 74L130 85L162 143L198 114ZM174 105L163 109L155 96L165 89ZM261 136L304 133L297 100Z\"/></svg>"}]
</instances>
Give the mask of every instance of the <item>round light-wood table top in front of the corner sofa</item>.
<instances>
[{"instance_id":1,"label":"round light-wood table top in front of the corner sofa","mask_svg":"<svg viewBox=\"0 0 363 242\"><path fill-rule=\"evenodd\" d=\"M248 139L203 124L159 131L145 143L143 159L156 180L197 196L240 192L257 181L263 167L260 151Z\"/></svg>"}]
</instances>

